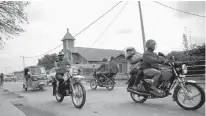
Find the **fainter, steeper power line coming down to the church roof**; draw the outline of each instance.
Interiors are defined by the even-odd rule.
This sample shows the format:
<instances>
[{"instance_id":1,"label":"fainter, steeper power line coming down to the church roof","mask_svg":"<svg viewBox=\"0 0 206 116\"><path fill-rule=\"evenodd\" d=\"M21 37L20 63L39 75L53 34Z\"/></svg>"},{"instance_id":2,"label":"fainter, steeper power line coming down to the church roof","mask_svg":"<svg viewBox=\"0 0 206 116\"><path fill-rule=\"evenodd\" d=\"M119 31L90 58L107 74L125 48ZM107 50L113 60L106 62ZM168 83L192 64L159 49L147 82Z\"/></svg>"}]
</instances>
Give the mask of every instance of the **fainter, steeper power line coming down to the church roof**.
<instances>
[{"instance_id":1,"label":"fainter, steeper power line coming down to the church roof","mask_svg":"<svg viewBox=\"0 0 206 116\"><path fill-rule=\"evenodd\" d=\"M91 44L90 47L92 47L102 36L103 34L109 29L109 27L114 23L114 21L117 19L117 17L120 15L120 13L123 11L125 6L127 5L128 1L124 4L124 6L120 9L118 14L114 17L114 19L107 25L106 29L100 34L100 36L94 41L94 43Z\"/></svg>"}]
</instances>

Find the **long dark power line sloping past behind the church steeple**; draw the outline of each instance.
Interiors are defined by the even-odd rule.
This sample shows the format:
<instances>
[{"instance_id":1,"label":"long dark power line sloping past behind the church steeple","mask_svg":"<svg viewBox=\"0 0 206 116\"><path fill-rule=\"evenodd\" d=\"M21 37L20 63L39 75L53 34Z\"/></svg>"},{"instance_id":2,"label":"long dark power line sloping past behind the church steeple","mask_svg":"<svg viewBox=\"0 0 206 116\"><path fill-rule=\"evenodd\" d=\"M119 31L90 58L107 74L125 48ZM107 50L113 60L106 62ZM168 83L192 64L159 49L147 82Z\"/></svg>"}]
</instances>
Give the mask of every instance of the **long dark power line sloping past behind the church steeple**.
<instances>
[{"instance_id":1,"label":"long dark power line sloping past behind the church steeple","mask_svg":"<svg viewBox=\"0 0 206 116\"><path fill-rule=\"evenodd\" d=\"M84 32L86 29L88 29L90 26L92 26L94 23L96 23L98 20L100 20L101 18L103 18L106 14L108 14L110 11L112 11L115 7L117 7L122 1L119 1L117 4L115 4L112 8L110 8L108 11L106 11L104 14L102 14L99 18L97 18L95 21L93 21L92 23L90 23L88 26L86 26L84 29L82 29L80 32L78 32L77 34L74 35L74 37L78 36L79 34L81 34L82 32ZM57 47L41 54L41 55L36 55L36 56L33 56L33 57L25 57L25 58L35 58L35 57L39 57L39 56L42 56L42 55L45 55L57 48L59 48L60 46L62 46L62 44L58 45Z\"/></svg>"}]
</instances>

